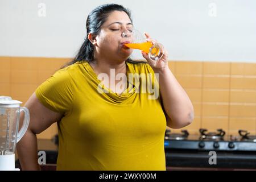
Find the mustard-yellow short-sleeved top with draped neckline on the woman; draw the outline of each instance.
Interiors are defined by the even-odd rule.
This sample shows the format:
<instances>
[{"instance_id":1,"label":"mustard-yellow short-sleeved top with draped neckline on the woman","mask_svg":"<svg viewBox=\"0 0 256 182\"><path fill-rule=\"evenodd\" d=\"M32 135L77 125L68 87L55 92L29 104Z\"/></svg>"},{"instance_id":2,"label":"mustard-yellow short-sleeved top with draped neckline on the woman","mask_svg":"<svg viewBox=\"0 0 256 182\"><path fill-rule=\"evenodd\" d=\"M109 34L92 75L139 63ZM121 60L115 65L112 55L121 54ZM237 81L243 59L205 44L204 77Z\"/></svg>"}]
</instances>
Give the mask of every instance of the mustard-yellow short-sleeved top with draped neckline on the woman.
<instances>
[{"instance_id":1,"label":"mustard-yellow short-sleeved top with draped neckline on the woman","mask_svg":"<svg viewBox=\"0 0 256 182\"><path fill-rule=\"evenodd\" d=\"M147 63L126 62L131 73L151 73ZM152 93L138 92L142 80L127 92L98 92L101 81L86 61L55 72L36 89L39 101L64 113L58 122L58 170L166 170L166 117ZM153 77L154 78L154 77ZM129 80L129 79L127 79ZM158 85L152 79L152 85ZM151 86L152 86L151 85ZM152 86L154 88L154 86Z\"/></svg>"}]
</instances>

